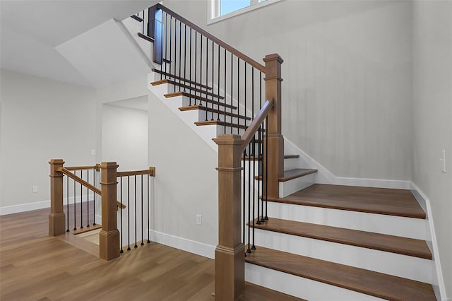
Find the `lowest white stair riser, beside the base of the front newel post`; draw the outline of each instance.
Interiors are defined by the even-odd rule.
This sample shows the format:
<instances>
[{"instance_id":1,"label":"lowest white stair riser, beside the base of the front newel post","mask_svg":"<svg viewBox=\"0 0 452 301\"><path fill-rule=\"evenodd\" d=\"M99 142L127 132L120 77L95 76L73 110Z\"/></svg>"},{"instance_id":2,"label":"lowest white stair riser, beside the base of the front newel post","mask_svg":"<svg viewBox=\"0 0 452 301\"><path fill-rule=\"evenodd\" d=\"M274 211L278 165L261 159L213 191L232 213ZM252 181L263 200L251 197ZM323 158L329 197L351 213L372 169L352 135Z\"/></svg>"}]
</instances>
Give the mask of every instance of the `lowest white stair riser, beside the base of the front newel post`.
<instances>
[{"instance_id":1,"label":"lowest white stair riser, beside the base of the front newel post","mask_svg":"<svg viewBox=\"0 0 452 301\"><path fill-rule=\"evenodd\" d=\"M312 281L307 278L248 263L245 264L245 281L311 301L383 300L370 295L357 293L353 290L346 290L345 288L339 288L334 285Z\"/></svg>"}]
</instances>

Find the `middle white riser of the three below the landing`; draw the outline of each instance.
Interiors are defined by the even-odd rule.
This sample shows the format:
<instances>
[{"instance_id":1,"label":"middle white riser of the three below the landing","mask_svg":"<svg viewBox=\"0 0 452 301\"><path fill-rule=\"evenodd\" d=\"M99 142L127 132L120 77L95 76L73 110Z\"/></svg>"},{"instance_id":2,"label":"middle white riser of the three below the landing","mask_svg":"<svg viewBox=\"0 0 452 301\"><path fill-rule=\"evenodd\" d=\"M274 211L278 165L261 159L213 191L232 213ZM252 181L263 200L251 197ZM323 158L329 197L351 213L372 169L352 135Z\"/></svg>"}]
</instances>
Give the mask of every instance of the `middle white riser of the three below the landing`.
<instances>
[{"instance_id":1,"label":"middle white riser of the three below the landing","mask_svg":"<svg viewBox=\"0 0 452 301\"><path fill-rule=\"evenodd\" d=\"M255 229L255 243L269 249L432 283L432 261L348 244Z\"/></svg>"}]
</instances>

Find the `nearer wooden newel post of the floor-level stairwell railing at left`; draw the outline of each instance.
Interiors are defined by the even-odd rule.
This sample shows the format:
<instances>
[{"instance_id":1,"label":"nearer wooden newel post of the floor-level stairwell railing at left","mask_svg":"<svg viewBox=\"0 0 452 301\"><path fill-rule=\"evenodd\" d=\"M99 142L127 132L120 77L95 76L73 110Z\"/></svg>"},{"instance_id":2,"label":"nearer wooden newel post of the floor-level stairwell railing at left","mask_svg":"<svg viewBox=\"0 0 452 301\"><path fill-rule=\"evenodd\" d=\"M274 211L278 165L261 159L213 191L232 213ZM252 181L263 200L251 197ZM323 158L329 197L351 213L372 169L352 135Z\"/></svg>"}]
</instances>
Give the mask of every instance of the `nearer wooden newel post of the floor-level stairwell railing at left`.
<instances>
[{"instance_id":1,"label":"nearer wooden newel post of the floor-level stairwell railing at left","mask_svg":"<svg viewBox=\"0 0 452 301\"><path fill-rule=\"evenodd\" d=\"M99 233L99 256L110 260L119 257L117 228L117 168L116 162L102 162L102 230Z\"/></svg>"}]
</instances>

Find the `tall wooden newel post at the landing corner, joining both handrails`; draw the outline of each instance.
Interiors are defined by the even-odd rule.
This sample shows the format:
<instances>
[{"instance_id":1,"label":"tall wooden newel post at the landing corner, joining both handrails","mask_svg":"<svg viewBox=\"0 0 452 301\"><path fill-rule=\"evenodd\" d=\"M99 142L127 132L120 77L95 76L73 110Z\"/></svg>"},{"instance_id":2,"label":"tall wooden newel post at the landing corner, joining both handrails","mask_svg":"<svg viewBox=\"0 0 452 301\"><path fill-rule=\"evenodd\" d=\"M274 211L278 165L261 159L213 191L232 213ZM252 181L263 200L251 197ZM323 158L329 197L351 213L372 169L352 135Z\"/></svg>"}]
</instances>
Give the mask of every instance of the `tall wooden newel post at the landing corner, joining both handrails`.
<instances>
[{"instance_id":1,"label":"tall wooden newel post at the landing corner, joining both handrails","mask_svg":"<svg viewBox=\"0 0 452 301\"><path fill-rule=\"evenodd\" d=\"M264 185L268 185L268 197L279 197L279 179L284 176L284 137L281 134L281 64L278 54L268 54L263 58L266 63L266 99L275 104L268 113L266 136L268 136L268 175ZM264 158L267 156L267 138L264 138ZM265 161L264 161L265 162ZM265 171L265 169L264 169ZM264 177L266 175L264 174ZM264 187L263 191L266 191Z\"/></svg>"}]
</instances>

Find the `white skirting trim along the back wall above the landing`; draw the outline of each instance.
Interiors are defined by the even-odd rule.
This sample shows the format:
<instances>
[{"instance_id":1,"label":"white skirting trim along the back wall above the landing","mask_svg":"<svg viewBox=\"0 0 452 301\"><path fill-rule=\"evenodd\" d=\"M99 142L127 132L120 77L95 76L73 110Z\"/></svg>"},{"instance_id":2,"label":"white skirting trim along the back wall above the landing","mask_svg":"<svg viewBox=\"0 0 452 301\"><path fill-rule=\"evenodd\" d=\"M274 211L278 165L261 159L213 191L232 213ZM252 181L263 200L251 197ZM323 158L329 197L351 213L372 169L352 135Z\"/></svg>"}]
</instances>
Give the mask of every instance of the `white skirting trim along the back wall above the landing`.
<instances>
[{"instance_id":1,"label":"white skirting trim along the back wall above the landing","mask_svg":"<svg viewBox=\"0 0 452 301\"><path fill-rule=\"evenodd\" d=\"M393 188L393 189L410 189L410 181L395 180L395 179L366 179L356 177L336 177L332 172L323 167L319 162L311 158L307 153L304 153L300 148L295 146L292 141L284 138L285 153L290 155L299 155L300 167L314 168L318 170L316 174L316 183L319 184L335 184L347 186L361 186L361 187L379 187L379 188Z\"/></svg>"}]
</instances>

